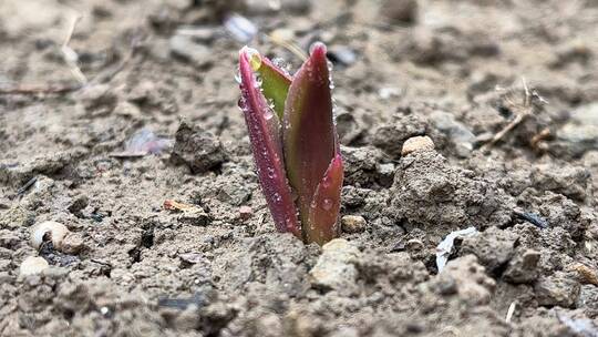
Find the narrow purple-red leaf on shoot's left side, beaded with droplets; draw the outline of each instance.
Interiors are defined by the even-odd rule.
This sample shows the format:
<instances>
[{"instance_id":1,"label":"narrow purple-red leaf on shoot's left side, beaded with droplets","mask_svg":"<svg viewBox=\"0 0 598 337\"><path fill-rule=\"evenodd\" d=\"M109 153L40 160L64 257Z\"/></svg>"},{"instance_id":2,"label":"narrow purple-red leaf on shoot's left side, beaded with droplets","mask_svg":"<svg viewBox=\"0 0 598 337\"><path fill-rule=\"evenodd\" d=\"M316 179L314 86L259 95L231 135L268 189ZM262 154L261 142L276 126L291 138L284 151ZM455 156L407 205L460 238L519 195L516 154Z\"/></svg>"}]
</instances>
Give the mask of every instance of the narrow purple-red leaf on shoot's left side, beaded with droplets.
<instances>
[{"instance_id":1,"label":"narrow purple-red leaf on shoot's left side, beaded with droplets","mask_svg":"<svg viewBox=\"0 0 598 337\"><path fill-rule=\"evenodd\" d=\"M239 53L241 90L239 106L245 115L261 190L276 227L280 232L291 232L301 237L296 206L285 172L280 124L254 74L261 64L260 60L257 51L249 48L241 49Z\"/></svg>"}]
</instances>

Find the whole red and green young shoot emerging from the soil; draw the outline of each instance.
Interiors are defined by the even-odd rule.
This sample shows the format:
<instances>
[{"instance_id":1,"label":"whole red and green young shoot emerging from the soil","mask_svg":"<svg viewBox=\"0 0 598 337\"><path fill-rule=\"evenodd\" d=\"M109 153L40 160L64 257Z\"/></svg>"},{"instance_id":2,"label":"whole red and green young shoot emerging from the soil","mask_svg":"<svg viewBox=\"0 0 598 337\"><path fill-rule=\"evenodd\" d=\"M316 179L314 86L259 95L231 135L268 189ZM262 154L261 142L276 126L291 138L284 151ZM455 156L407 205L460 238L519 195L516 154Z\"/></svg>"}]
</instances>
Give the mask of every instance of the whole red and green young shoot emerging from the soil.
<instances>
[{"instance_id":1,"label":"whole red and green young shoot emerging from the soil","mask_svg":"<svg viewBox=\"0 0 598 337\"><path fill-rule=\"evenodd\" d=\"M239 76L239 108L277 229L319 245L338 237L343 172L326 45L315 43L295 76L245 47Z\"/></svg>"}]
</instances>

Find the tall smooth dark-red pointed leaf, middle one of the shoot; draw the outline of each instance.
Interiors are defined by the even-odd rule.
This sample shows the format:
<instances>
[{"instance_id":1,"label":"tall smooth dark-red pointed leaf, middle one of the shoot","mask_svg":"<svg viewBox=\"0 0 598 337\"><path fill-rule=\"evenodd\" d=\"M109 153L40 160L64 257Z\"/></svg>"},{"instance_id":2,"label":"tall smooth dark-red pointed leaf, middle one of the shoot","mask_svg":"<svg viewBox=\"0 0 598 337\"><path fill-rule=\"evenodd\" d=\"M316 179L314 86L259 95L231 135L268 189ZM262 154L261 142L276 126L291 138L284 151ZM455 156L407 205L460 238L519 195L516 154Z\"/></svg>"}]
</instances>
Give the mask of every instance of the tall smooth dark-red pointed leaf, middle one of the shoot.
<instances>
[{"instance_id":1,"label":"tall smooth dark-red pointed leaf, middle one of the shoot","mask_svg":"<svg viewBox=\"0 0 598 337\"><path fill-rule=\"evenodd\" d=\"M311 201L338 147L330 86L326 47L316 43L289 88L282 131L287 175L299 197L303 228L311 225Z\"/></svg>"}]
</instances>

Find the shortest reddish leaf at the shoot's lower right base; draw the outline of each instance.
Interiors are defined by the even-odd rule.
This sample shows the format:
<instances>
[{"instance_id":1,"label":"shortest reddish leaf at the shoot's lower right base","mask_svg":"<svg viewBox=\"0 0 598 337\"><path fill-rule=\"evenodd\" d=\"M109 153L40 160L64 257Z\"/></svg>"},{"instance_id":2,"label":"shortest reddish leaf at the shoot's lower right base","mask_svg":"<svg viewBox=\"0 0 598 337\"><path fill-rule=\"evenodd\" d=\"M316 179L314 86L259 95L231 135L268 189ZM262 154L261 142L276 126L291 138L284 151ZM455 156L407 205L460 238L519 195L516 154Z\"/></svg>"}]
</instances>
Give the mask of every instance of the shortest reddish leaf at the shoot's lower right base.
<instances>
[{"instance_id":1,"label":"shortest reddish leaf at the shoot's lower right base","mask_svg":"<svg viewBox=\"0 0 598 337\"><path fill-rule=\"evenodd\" d=\"M342 178L342 159L340 154L337 154L318 184L311 201L309 225L303 225L303 236L308 243L323 245L339 236L337 218L340 210Z\"/></svg>"}]
</instances>

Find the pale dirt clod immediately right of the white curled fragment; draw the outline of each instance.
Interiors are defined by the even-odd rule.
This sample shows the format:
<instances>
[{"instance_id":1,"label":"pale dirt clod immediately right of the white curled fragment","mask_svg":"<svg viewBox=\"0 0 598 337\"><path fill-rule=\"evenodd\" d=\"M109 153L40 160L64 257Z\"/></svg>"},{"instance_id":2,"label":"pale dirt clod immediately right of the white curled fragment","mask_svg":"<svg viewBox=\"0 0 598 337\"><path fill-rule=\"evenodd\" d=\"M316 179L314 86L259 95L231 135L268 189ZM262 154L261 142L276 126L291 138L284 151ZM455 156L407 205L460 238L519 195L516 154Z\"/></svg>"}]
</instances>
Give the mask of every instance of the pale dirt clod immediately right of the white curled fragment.
<instances>
[{"instance_id":1,"label":"pale dirt clod immediately right of the white curled fragment","mask_svg":"<svg viewBox=\"0 0 598 337\"><path fill-rule=\"evenodd\" d=\"M478 235L465 237L460 254L474 254L489 273L497 274L513 256L517 238L517 234L493 226Z\"/></svg>"}]
</instances>

